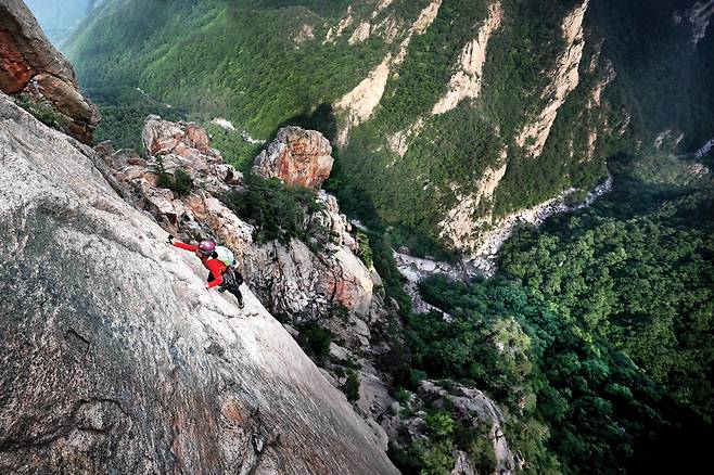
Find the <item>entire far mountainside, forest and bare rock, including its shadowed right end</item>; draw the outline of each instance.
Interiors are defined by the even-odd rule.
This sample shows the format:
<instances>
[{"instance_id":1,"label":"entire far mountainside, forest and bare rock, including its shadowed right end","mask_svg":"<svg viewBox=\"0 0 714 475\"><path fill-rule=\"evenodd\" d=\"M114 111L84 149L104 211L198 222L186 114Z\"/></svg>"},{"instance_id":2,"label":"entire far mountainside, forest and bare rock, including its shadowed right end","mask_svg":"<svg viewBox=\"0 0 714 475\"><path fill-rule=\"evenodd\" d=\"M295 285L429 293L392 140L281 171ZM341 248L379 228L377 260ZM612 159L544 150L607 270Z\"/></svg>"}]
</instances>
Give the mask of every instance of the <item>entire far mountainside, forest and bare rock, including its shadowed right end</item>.
<instances>
[{"instance_id":1,"label":"entire far mountainside, forest and bare rock, including its shadowed right end","mask_svg":"<svg viewBox=\"0 0 714 475\"><path fill-rule=\"evenodd\" d=\"M714 134L692 4L112 0L68 52L98 98L140 87L263 139L320 128L343 145L332 187L353 213L416 252L477 252L508 213L594 187L624 132L681 131L687 150Z\"/></svg>"}]
</instances>

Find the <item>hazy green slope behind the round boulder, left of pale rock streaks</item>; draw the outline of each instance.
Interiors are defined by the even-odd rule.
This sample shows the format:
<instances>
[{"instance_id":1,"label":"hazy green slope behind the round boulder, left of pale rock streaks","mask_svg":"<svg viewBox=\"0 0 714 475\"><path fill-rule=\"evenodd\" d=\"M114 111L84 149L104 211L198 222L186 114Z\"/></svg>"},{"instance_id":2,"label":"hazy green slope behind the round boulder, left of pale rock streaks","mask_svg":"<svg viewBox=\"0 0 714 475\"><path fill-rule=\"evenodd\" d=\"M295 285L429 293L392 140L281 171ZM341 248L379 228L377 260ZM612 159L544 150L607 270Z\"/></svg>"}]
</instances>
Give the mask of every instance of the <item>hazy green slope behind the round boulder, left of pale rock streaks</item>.
<instances>
[{"instance_id":1,"label":"hazy green slope behind the round boulder, left of pale rock streaks","mask_svg":"<svg viewBox=\"0 0 714 475\"><path fill-rule=\"evenodd\" d=\"M339 98L374 63L369 44L337 50L315 39L339 3L179 0L168 9L114 0L73 39L68 55L90 91L139 86L267 139L279 124Z\"/></svg>"}]
</instances>

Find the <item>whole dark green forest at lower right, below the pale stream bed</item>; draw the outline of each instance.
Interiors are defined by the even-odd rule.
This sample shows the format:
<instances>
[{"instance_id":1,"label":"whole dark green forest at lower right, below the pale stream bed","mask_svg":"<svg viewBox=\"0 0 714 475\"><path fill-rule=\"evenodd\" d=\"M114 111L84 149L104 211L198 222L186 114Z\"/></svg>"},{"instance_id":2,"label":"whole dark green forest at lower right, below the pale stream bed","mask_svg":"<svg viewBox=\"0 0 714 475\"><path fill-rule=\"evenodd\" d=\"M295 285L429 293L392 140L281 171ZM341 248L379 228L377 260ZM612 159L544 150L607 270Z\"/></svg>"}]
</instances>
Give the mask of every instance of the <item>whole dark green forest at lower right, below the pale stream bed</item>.
<instances>
[{"instance_id":1,"label":"whole dark green forest at lower right, below the pale stream bed","mask_svg":"<svg viewBox=\"0 0 714 475\"><path fill-rule=\"evenodd\" d=\"M422 296L449 319L404 316L399 359L410 363L395 381L485 390L507 408L525 473L676 473L673 454L714 435L711 178L646 182L626 156L611 168L611 194L519 231L496 279L423 281ZM405 473L445 473L431 467L455 448L475 460L493 450L437 414L451 421L448 437L393 448Z\"/></svg>"}]
</instances>

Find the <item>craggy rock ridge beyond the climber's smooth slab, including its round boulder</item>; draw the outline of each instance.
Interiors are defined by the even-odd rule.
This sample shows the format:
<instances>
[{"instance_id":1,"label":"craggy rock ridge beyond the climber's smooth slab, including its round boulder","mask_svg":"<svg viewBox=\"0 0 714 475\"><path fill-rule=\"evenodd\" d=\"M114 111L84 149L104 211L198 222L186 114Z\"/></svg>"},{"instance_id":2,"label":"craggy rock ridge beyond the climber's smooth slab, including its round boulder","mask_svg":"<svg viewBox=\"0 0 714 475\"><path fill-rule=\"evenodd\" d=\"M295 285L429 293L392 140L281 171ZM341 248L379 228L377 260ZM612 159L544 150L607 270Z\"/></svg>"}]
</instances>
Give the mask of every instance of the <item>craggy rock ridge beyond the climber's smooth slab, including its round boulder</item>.
<instances>
[{"instance_id":1,"label":"craggy rock ridge beyond the climber's smooth slab, including its round boulder","mask_svg":"<svg viewBox=\"0 0 714 475\"><path fill-rule=\"evenodd\" d=\"M291 335L302 345L308 345L310 356L327 370L326 377L333 386L348 393L345 370L358 374L360 397L354 401L357 413L386 450L387 435L377 420L382 420L393 399L384 375L374 369L374 360L395 342L372 344L383 336L380 329L387 320L383 284L377 271L371 266L368 269L357 257L361 249L335 197L323 191L303 189L313 210L298 217L302 222L297 224L304 226L307 233L289 240L255 240L264 224L253 220L255 213L265 216L272 207L290 207L286 201L295 200L295 195L284 194L290 187L281 192L281 185L275 183L278 177L263 181L259 178L255 181L255 175L244 178L222 162L220 152L211 146L204 128L195 124L170 123L152 115L146 117L142 136L148 158L130 150L114 151L109 142L95 147L116 179L120 194L151 214L166 232L183 241L209 236L229 246L251 288L271 312L280 316ZM317 131L291 127L278 136L269 147L275 153L256 157L253 171L266 171L268 176L279 172L280 180L285 182L314 181L322 171L303 167L305 158L332 161L329 144L321 153L305 153L305 140L308 144L327 144ZM276 163L276 158L283 166L278 169L260 166ZM183 188L175 181L181 176ZM254 201L254 189L267 182L271 185L269 195L260 196L262 207L254 209L254 214L241 213L240 203ZM278 219L284 218L285 215ZM334 358L329 361L326 355L313 354L309 335L316 328L322 332L327 329L330 338L343 345L330 345L330 356L334 354ZM302 335L302 329L308 336ZM358 373L354 372L355 362L360 367ZM355 397L355 391L348 393L350 397ZM374 395L379 396L379 405L373 403Z\"/></svg>"}]
</instances>

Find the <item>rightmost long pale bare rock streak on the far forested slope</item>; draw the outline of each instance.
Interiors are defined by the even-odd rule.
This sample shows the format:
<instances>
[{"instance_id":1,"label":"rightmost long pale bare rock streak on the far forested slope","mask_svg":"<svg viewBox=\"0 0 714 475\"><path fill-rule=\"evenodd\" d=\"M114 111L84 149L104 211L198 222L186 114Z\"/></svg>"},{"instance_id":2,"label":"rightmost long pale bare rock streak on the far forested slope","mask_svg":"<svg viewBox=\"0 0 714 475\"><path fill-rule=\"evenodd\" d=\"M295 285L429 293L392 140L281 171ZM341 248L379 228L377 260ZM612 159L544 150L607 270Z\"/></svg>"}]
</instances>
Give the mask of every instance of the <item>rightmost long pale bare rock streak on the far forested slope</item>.
<instances>
[{"instance_id":1,"label":"rightmost long pale bare rock streak on the far forested slope","mask_svg":"<svg viewBox=\"0 0 714 475\"><path fill-rule=\"evenodd\" d=\"M525 147L532 156L543 153L558 111L579 82L578 66L585 48L583 18L589 0L584 0L563 20L562 33L565 51L558 56L556 67L550 73L550 85L541 94L543 98L550 99L543 111L528 121L517 138L519 146Z\"/></svg>"}]
</instances>

